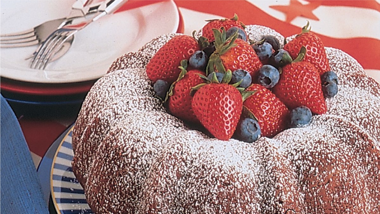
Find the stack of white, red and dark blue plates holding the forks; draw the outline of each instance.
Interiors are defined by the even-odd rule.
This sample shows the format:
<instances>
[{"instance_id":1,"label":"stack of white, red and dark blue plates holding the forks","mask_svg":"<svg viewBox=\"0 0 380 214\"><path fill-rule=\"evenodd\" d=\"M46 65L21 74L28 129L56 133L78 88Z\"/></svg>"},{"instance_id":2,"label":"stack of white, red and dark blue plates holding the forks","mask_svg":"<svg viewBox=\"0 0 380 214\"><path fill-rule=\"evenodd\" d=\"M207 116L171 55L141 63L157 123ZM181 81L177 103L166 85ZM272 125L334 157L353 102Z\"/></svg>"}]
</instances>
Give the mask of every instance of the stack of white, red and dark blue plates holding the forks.
<instances>
[{"instance_id":1,"label":"stack of white, red and dark blue plates holding the forks","mask_svg":"<svg viewBox=\"0 0 380 214\"><path fill-rule=\"evenodd\" d=\"M65 17L73 2L4 1L1 34L28 30ZM158 35L183 30L180 26L182 18L173 1L130 0L116 13L79 31L68 52L45 70L28 67L30 60L26 58L37 45L0 48L1 93L17 114L64 109L75 112L91 86L105 75L117 57L137 51Z\"/></svg>"}]
</instances>

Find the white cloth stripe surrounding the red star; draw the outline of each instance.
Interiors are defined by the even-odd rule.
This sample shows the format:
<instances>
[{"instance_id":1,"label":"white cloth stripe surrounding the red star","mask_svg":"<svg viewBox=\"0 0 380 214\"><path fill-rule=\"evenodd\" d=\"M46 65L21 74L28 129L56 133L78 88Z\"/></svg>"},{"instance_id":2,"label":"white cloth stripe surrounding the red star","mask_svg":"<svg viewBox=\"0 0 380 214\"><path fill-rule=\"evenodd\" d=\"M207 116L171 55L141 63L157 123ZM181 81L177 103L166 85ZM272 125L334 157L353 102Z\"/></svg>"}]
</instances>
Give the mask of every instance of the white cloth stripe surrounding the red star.
<instances>
[{"instance_id":1,"label":"white cloth stripe surrounding the red star","mask_svg":"<svg viewBox=\"0 0 380 214\"><path fill-rule=\"evenodd\" d=\"M285 21L286 16L281 11L274 10L269 6L289 5L289 1L255 1L250 2L265 13ZM307 2L300 1L302 4ZM297 17L291 24L303 27L306 21L310 21L313 32L335 38L368 37L380 40L380 13L369 8L359 8L350 6L324 6L320 5L313 14L320 19L312 20L304 17ZM342 23L347 23L342 25Z\"/></svg>"}]
</instances>

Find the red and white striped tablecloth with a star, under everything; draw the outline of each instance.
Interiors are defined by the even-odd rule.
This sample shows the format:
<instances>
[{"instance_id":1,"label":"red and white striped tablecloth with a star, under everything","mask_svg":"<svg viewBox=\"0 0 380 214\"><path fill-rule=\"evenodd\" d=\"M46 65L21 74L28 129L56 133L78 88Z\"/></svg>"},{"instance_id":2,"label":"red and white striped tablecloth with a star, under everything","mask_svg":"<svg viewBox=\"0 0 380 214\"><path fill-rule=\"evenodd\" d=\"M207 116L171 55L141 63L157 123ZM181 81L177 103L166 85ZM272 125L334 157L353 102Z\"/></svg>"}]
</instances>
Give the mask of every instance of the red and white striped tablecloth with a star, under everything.
<instances>
[{"instance_id":1,"label":"red and white striped tablecloth with a star, under everything","mask_svg":"<svg viewBox=\"0 0 380 214\"><path fill-rule=\"evenodd\" d=\"M133 2L133 1L132 1ZM135 1L136 2L136 1ZM137 2L136 5L160 1ZM268 26L285 37L298 34L308 21L325 46L353 56L366 72L380 82L380 3L378 1L232 1L176 0L182 14L184 33L201 29L205 20L231 18L238 14L244 24ZM71 123L20 121L35 163ZM36 136L37 129L50 129L49 136ZM32 130L32 131L31 131Z\"/></svg>"}]
</instances>

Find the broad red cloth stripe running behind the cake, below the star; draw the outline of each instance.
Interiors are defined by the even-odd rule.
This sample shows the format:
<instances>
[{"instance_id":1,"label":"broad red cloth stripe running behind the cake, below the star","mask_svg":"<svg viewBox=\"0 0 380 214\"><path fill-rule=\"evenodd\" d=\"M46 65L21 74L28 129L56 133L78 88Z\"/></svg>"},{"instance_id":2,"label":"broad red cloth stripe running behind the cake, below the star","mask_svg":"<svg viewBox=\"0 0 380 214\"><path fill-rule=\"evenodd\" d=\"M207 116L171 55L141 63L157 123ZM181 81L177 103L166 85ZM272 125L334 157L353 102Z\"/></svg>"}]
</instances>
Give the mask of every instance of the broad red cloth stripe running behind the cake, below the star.
<instances>
[{"instance_id":1,"label":"broad red cloth stripe running behind the cake, below the star","mask_svg":"<svg viewBox=\"0 0 380 214\"><path fill-rule=\"evenodd\" d=\"M203 13L215 14L217 16L231 18L237 13L239 20L244 24L263 25L275 29L285 37L299 34L301 29L292 24L280 21L256 6L246 1L175 1L177 6L195 10ZM194 29L198 30L198 29ZM338 48L354 57L364 69L378 69L380 64L376 58L376 53L380 50L380 40L371 38L349 38L337 39L318 34L326 47ZM379 58L377 56L377 58Z\"/></svg>"}]
</instances>

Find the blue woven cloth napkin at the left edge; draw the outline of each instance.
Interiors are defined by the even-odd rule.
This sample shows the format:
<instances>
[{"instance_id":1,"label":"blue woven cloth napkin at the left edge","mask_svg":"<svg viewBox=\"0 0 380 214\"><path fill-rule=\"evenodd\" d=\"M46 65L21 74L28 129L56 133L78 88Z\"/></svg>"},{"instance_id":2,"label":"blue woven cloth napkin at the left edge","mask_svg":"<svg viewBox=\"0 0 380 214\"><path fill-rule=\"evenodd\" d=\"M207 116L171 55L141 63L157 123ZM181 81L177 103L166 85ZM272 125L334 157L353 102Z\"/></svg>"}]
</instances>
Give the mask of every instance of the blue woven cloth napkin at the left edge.
<instances>
[{"instance_id":1,"label":"blue woven cloth napkin at the left edge","mask_svg":"<svg viewBox=\"0 0 380 214\"><path fill-rule=\"evenodd\" d=\"M1 95L0 212L48 214L36 168L20 125Z\"/></svg>"}]
</instances>

